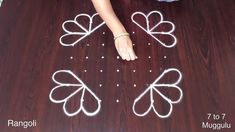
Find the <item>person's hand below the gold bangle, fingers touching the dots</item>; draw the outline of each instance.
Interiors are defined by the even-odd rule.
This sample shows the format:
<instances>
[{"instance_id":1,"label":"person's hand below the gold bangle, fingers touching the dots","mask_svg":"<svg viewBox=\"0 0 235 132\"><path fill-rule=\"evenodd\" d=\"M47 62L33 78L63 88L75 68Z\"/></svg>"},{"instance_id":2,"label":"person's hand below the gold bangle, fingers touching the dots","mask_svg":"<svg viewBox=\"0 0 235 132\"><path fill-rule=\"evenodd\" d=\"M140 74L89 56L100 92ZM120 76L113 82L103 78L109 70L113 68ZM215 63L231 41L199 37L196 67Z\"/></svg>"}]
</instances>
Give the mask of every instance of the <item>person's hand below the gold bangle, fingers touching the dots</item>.
<instances>
[{"instance_id":1,"label":"person's hand below the gold bangle, fingers touching the dots","mask_svg":"<svg viewBox=\"0 0 235 132\"><path fill-rule=\"evenodd\" d=\"M123 60L135 60L137 56L133 50L132 41L129 36L118 37L114 40L118 54Z\"/></svg>"}]
</instances>

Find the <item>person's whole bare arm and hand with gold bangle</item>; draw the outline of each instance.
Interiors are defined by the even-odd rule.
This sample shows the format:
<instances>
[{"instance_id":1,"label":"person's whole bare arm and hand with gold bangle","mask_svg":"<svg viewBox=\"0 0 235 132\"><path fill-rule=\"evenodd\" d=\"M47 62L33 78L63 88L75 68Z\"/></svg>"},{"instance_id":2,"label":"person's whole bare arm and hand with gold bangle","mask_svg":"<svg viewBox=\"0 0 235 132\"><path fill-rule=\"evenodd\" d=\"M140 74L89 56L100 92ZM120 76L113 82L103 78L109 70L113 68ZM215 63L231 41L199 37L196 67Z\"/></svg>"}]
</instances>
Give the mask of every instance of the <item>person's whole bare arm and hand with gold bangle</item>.
<instances>
[{"instance_id":1,"label":"person's whole bare arm and hand with gold bangle","mask_svg":"<svg viewBox=\"0 0 235 132\"><path fill-rule=\"evenodd\" d=\"M92 2L96 11L112 31L118 54L123 60L137 59L129 34L113 11L110 0L92 0Z\"/></svg>"}]
</instances>

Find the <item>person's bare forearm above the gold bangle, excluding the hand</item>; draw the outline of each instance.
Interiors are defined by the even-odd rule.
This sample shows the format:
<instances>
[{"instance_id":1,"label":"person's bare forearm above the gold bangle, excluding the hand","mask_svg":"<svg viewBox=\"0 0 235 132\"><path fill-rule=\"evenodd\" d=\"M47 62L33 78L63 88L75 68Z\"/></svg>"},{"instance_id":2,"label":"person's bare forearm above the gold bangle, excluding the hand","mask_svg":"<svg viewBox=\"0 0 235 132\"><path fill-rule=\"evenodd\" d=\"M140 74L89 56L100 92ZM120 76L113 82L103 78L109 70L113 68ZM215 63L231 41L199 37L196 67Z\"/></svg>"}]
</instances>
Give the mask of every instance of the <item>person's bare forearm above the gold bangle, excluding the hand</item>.
<instances>
[{"instance_id":1,"label":"person's bare forearm above the gold bangle, excluding the hand","mask_svg":"<svg viewBox=\"0 0 235 132\"><path fill-rule=\"evenodd\" d=\"M92 0L92 3L114 36L126 32L126 29L114 13L110 0Z\"/></svg>"}]
</instances>

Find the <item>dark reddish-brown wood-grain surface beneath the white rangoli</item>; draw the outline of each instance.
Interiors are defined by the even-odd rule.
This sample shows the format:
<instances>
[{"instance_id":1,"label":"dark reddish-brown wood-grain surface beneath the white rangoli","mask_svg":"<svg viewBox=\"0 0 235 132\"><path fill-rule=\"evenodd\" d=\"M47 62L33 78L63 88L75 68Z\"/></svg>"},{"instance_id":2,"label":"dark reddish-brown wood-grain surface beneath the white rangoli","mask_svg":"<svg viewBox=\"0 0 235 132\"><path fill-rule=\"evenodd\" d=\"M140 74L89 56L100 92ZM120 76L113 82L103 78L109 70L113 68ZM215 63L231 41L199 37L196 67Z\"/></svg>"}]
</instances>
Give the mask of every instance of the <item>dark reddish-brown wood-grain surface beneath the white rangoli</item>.
<instances>
[{"instance_id":1,"label":"dark reddish-brown wood-grain surface beneath the white rangoli","mask_svg":"<svg viewBox=\"0 0 235 132\"><path fill-rule=\"evenodd\" d=\"M137 61L116 59L113 37L106 26L74 47L59 44L64 33L63 21L79 13L95 13L89 0L3 2L0 8L0 131L212 132L212 129L202 129L202 122L208 121L231 123L231 129L220 131L234 132L235 1L182 0L169 4L154 0L113 0L113 5L127 30L135 32L131 37L136 44ZM135 11L148 13L152 10L161 11L166 20L175 23L176 47L164 48L131 22L130 16ZM183 74L179 85L184 93L183 100L174 105L167 119L159 118L153 111L145 117L135 116L132 112L134 99L170 67L178 68ZM101 111L96 116L79 113L67 117L62 104L49 100L48 95L56 86L51 76L62 69L72 70L102 100ZM174 81L173 76L165 81ZM64 93L60 95L63 97ZM170 93L166 91L167 95L175 95ZM158 109L166 112L167 103L155 98ZM70 110L78 107L77 99L71 100ZM120 102L117 103L117 99ZM147 106L146 102L142 105L142 108ZM94 103L91 100L86 106L94 108ZM226 116L224 120L208 120L208 113L225 113ZM8 127L9 119L34 119L37 126Z\"/></svg>"}]
</instances>

